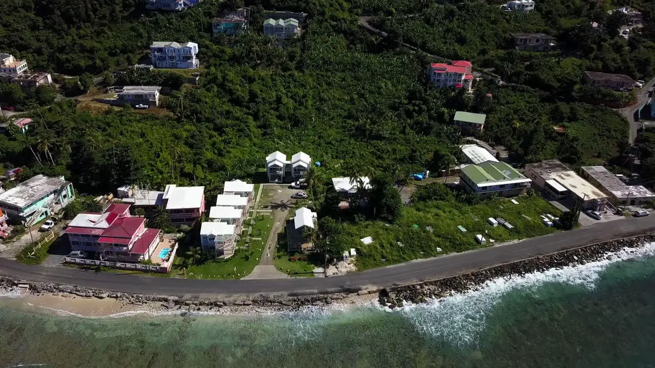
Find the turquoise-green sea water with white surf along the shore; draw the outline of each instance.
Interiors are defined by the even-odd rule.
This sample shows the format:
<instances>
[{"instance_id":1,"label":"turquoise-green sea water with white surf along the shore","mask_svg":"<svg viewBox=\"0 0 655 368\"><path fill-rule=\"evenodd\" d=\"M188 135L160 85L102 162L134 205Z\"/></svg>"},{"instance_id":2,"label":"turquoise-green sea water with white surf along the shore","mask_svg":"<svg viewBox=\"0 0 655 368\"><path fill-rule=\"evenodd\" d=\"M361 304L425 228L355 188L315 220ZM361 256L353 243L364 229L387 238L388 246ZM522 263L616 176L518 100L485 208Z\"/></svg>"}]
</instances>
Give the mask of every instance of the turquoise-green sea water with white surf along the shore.
<instances>
[{"instance_id":1,"label":"turquoise-green sea water with white surf along the shore","mask_svg":"<svg viewBox=\"0 0 655 368\"><path fill-rule=\"evenodd\" d=\"M655 244L393 312L91 319L17 303L0 303L0 367L655 367Z\"/></svg>"}]
</instances>

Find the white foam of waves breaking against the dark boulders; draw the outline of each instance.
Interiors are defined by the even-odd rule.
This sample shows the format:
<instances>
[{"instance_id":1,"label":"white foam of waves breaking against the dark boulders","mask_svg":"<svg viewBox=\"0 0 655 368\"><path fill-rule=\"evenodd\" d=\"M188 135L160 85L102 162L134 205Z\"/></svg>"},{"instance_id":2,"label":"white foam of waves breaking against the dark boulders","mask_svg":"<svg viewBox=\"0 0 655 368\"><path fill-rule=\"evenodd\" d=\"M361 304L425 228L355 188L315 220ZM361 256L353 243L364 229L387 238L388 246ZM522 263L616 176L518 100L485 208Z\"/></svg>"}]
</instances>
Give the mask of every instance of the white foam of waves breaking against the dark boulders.
<instances>
[{"instance_id":1,"label":"white foam of waves breaking against the dark boulders","mask_svg":"<svg viewBox=\"0 0 655 368\"><path fill-rule=\"evenodd\" d=\"M534 291L546 283L579 285L593 290L608 265L626 259L653 256L655 256L655 243L648 243L641 248L624 248L615 253L607 253L603 259L586 265L552 268L524 276L496 278L471 291L432 299L422 304L405 303L403 308L394 310L385 307L384 310L402 314L419 329L438 339L458 345L472 344L485 328L491 308L510 291L517 289Z\"/></svg>"}]
</instances>

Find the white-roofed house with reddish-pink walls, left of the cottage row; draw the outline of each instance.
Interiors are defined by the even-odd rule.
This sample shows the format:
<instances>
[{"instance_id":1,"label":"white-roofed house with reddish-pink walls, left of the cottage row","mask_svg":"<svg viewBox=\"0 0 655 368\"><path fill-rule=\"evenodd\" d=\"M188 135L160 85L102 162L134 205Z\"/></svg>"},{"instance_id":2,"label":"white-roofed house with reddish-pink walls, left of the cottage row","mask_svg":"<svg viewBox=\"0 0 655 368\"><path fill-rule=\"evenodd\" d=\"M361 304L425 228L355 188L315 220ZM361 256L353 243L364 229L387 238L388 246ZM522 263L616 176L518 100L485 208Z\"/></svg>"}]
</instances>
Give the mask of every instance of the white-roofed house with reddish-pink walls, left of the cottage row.
<instances>
[{"instance_id":1,"label":"white-roofed house with reddish-pink walls, left of the cottage row","mask_svg":"<svg viewBox=\"0 0 655 368\"><path fill-rule=\"evenodd\" d=\"M193 225L204 213L204 187L166 185L162 203L171 225Z\"/></svg>"}]
</instances>

